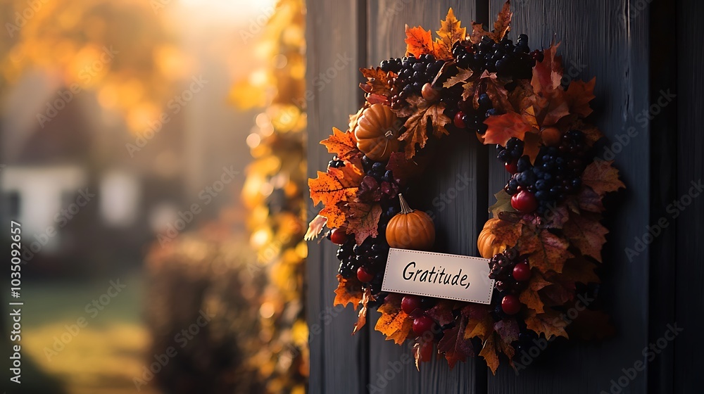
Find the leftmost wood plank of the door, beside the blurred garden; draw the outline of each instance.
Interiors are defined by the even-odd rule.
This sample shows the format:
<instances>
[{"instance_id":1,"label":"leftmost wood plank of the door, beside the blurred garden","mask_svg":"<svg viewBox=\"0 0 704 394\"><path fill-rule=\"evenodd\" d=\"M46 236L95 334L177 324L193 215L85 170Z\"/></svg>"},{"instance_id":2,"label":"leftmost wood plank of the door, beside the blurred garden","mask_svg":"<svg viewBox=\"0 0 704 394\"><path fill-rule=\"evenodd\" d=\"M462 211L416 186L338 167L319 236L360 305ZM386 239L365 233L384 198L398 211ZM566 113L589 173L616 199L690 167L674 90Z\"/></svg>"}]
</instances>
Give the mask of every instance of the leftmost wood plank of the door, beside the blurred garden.
<instances>
[{"instance_id":1,"label":"leftmost wood plank of the door, beside the blurred garden","mask_svg":"<svg viewBox=\"0 0 704 394\"><path fill-rule=\"evenodd\" d=\"M345 129L348 115L358 109L358 27L363 23L358 20L358 1L310 0L307 8L308 177L315 178L332 158L318 142L333 126ZM319 210L309 202L308 219ZM367 338L365 333L351 337L356 322L351 308L332 307L339 266L332 243L308 243L307 265L309 393L362 393ZM321 331L316 333L315 326Z\"/></svg>"}]
</instances>

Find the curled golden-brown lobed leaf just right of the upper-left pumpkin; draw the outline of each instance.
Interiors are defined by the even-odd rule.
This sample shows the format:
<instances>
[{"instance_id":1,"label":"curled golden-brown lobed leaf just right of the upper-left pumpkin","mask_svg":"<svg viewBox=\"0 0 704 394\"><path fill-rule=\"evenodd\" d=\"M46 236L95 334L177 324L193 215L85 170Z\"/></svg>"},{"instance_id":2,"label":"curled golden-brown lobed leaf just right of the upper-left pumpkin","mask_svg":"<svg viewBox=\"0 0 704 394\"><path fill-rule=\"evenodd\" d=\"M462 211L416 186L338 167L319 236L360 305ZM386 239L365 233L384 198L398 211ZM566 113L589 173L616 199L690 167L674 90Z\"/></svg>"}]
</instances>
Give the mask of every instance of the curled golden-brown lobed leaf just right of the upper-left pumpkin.
<instances>
[{"instance_id":1,"label":"curled golden-brown lobed leaf just right of the upper-left pumpkin","mask_svg":"<svg viewBox=\"0 0 704 394\"><path fill-rule=\"evenodd\" d=\"M432 130L434 136L441 137L443 134L450 134L445 125L451 122L450 118L444 114L445 103L439 102L426 108L418 108L417 112L411 115L406 123L406 132L398 137L401 141L406 141L406 158L413 158L415 146L425 147L428 140L427 133Z\"/></svg>"}]
</instances>

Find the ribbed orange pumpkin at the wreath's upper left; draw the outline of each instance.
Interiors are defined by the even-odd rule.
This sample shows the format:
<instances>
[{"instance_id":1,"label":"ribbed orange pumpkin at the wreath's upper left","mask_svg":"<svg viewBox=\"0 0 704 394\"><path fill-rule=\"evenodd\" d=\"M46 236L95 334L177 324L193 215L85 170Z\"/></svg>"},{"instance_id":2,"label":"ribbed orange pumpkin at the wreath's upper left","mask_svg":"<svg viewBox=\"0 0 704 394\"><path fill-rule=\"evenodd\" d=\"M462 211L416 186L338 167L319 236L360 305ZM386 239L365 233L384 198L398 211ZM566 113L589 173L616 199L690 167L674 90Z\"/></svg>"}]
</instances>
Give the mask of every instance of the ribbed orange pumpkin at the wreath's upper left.
<instances>
[{"instance_id":1,"label":"ribbed orange pumpkin at the wreath's upper left","mask_svg":"<svg viewBox=\"0 0 704 394\"><path fill-rule=\"evenodd\" d=\"M396 115L391 107L372 104L362 111L354 131L357 148L375 161L389 160L392 152L398 151Z\"/></svg>"}]
</instances>

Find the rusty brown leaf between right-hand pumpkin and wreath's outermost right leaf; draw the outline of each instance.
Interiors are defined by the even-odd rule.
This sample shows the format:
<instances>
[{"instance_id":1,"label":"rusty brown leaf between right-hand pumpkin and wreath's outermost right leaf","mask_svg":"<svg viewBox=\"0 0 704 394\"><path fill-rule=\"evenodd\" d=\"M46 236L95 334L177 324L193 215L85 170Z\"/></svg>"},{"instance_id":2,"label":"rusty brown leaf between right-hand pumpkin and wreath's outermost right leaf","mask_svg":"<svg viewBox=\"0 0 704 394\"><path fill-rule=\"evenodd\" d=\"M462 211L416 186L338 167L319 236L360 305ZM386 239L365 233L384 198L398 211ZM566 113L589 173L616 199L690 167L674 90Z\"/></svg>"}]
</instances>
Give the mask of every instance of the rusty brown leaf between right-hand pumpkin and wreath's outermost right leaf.
<instances>
[{"instance_id":1,"label":"rusty brown leaf between right-hand pumpkin and wreath's outermost right leaf","mask_svg":"<svg viewBox=\"0 0 704 394\"><path fill-rule=\"evenodd\" d=\"M547 229L538 229L524 224L517 248L521 253L528 255L531 267L536 267L545 273L551 270L562 272L565 261L574 257L567 250L569 246L570 243L566 239Z\"/></svg>"}]
</instances>

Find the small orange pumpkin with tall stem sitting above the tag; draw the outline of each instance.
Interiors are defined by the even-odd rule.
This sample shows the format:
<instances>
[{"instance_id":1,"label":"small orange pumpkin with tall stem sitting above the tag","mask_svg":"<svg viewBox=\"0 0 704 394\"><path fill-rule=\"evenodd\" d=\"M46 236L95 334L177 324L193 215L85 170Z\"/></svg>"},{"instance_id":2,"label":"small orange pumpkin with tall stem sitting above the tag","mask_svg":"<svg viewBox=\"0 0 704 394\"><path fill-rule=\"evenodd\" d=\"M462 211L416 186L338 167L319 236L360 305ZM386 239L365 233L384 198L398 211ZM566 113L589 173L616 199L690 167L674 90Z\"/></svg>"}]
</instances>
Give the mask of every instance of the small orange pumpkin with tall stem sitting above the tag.
<instances>
[{"instance_id":1,"label":"small orange pumpkin with tall stem sitting above the tag","mask_svg":"<svg viewBox=\"0 0 704 394\"><path fill-rule=\"evenodd\" d=\"M430 250L435 242L435 225L430 216L420 210L412 210L401 194L401 213L386 224L386 242L391 248Z\"/></svg>"}]
</instances>

